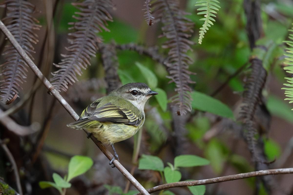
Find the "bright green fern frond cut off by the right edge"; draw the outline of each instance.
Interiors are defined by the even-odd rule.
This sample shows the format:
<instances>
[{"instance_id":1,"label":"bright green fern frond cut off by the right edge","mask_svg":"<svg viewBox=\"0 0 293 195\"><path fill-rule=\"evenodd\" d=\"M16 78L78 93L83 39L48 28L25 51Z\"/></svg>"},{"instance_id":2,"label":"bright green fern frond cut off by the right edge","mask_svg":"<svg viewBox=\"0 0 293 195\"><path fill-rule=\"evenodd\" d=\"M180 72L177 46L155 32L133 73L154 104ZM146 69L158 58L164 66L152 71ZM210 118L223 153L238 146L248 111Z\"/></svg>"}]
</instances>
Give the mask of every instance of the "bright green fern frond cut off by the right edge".
<instances>
[{"instance_id":1,"label":"bright green fern frond cut off by the right edge","mask_svg":"<svg viewBox=\"0 0 293 195\"><path fill-rule=\"evenodd\" d=\"M289 29L289 31L293 32L293 27ZM284 41L284 43L286 43L289 46L286 48L287 51L284 54L285 56L287 56L287 58L285 58L287 62L284 62L284 63L288 65L284 67L284 70L286 70L286 72L289 73L290 75L293 75L293 33L289 34L289 39L291 39L292 41L290 40ZM288 97L285 100L290 100L289 103L292 103L293 102L293 78L285 77L285 79L287 79L287 82L288 82L284 84L287 87L282 88L282 89L285 89L285 95Z\"/></svg>"}]
</instances>

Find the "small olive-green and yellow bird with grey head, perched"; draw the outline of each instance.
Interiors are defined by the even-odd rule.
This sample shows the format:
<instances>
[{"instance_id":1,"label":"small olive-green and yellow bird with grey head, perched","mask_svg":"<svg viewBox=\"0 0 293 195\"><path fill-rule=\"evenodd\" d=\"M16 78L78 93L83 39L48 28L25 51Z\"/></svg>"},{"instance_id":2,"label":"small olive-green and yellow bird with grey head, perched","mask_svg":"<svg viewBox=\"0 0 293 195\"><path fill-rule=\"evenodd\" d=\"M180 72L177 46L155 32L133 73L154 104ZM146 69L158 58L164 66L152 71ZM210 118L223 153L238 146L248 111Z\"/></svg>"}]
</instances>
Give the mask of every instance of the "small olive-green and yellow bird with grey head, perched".
<instances>
[{"instance_id":1,"label":"small olive-green and yellow bird with grey head, perched","mask_svg":"<svg viewBox=\"0 0 293 195\"><path fill-rule=\"evenodd\" d=\"M108 96L91 103L81 113L79 120L68 124L73 129L85 129L88 137L93 135L99 141L110 144L115 159L119 161L114 143L132 137L144 124L144 105L158 94L144 83L128 83L113 90ZM113 166L114 167L114 166Z\"/></svg>"}]
</instances>

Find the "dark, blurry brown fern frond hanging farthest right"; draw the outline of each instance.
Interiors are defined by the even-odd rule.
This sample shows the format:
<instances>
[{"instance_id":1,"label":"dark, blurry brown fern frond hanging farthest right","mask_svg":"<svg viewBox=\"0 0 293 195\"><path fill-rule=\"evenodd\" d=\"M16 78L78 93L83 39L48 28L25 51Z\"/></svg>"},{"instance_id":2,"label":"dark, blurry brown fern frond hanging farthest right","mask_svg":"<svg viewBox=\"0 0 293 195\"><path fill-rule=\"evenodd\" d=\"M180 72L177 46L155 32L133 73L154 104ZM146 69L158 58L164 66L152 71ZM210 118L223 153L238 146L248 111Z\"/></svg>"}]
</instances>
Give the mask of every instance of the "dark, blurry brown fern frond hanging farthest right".
<instances>
[{"instance_id":1,"label":"dark, blurry brown fern frond hanging farthest right","mask_svg":"<svg viewBox=\"0 0 293 195\"><path fill-rule=\"evenodd\" d=\"M253 159L260 161L260 155L257 149L257 140L254 124L255 110L261 101L262 89L265 85L267 72L263 68L262 61L259 59L252 59L251 61L252 72L244 85L245 91L243 93L243 100L241 111L238 120L243 123L243 137L246 139L248 149L250 150Z\"/></svg>"}]
</instances>

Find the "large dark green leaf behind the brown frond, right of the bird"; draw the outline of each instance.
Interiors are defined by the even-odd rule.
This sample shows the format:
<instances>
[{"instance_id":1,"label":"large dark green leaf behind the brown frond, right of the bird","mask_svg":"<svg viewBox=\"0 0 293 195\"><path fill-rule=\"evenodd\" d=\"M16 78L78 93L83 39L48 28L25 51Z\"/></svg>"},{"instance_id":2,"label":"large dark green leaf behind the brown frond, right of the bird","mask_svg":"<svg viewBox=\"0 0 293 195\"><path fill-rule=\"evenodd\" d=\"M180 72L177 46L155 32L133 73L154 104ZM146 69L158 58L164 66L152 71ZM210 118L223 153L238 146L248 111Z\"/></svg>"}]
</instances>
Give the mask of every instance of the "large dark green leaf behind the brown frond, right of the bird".
<instances>
[{"instance_id":1,"label":"large dark green leaf behind the brown frond, right of the bird","mask_svg":"<svg viewBox=\"0 0 293 195\"><path fill-rule=\"evenodd\" d=\"M232 110L221 101L200 92L192 92L191 97L193 99L191 102L191 107L193 109L217 114L234 120Z\"/></svg>"}]
</instances>

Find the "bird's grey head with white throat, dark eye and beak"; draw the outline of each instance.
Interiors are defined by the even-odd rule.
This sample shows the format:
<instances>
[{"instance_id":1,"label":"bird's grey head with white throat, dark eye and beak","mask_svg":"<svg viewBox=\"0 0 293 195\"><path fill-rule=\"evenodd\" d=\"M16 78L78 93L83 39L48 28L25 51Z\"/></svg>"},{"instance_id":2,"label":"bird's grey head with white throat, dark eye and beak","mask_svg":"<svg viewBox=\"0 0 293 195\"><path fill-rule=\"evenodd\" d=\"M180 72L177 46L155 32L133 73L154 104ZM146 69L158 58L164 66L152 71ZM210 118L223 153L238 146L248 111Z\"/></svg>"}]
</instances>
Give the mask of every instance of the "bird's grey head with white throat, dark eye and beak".
<instances>
[{"instance_id":1,"label":"bird's grey head with white throat, dark eye and beak","mask_svg":"<svg viewBox=\"0 0 293 195\"><path fill-rule=\"evenodd\" d=\"M123 99L130 101L139 110L143 110L147 100L156 94L158 93L152 91L144 83L128 83L118 89L115 89L109 95L122 97Z\"/></svg>"}]
</instances>

